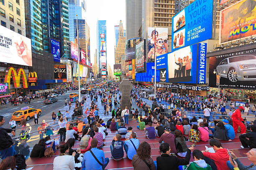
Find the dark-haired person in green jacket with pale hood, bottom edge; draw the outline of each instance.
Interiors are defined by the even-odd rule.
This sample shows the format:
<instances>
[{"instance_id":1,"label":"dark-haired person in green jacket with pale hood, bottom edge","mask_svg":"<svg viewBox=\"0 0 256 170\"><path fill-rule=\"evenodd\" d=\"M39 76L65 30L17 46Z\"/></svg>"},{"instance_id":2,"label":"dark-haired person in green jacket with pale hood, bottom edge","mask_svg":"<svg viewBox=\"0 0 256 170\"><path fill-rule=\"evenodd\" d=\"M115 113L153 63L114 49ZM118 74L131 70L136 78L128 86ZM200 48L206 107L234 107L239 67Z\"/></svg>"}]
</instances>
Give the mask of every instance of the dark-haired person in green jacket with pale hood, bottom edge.
<instances>
[{"instance_id":1,"label":"dark-haired person in green jacket with pale hood, bottom edge","mask_svg":"<svg viewBox=\"0 0 256 170\"><path fill-rule=\"evenodd\" d=\"M205 162L204 155L200 150L194 150L192 153L194 161L189 165L182 166L182 170L212 170L209 164Z\"/></svg>"}]
</instances>

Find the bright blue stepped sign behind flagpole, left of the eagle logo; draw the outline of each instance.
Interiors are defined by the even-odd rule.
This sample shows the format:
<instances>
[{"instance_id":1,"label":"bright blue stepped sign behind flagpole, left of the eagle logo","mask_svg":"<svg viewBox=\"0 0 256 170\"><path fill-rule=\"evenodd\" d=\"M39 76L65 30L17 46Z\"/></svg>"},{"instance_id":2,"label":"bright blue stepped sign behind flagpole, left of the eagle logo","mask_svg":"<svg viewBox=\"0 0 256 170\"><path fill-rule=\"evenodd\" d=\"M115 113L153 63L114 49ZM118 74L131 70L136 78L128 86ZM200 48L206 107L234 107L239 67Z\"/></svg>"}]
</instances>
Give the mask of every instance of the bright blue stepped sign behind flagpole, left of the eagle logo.
<instances>
[{"instance_id":1,"label":"bright blue stepped sign behind flagpole, left of the eagle logo","mask_svg":"<svg viewBox=\"0 0 256 170\"><path fill-rule=\"evenodd\" d=\"M141 82L152 82L153 75L155 75L155 63L147 62L146 63L146 72L136 73L135 81ZM159 82L159 70L156 70L156 82Z\"/></svg>"}]
</instances>

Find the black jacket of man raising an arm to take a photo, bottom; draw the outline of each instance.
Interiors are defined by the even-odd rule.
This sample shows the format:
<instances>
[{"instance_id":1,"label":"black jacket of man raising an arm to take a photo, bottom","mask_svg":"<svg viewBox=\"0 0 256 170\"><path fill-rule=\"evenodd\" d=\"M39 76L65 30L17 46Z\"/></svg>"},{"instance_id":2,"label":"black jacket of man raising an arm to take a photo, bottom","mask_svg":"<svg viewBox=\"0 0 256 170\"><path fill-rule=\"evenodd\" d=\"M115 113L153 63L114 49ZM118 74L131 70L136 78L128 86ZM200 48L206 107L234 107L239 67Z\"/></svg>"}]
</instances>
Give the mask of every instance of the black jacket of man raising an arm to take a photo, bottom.
<instances>
[{"instance_id":1,"label":"black jacket of man raising an arm to take a photo, bottom","mask_svg":"<svg viewBox=\"0 0 256 170\"><path fill-rule=\"evenodd\" d=\"M177 156L171 156L168 154L162 154L156 158L157 170L179 170L179 165L188 165L191 156L191 151L187 150L186 157L177 158Z\"/></svg>"}]
</instances>

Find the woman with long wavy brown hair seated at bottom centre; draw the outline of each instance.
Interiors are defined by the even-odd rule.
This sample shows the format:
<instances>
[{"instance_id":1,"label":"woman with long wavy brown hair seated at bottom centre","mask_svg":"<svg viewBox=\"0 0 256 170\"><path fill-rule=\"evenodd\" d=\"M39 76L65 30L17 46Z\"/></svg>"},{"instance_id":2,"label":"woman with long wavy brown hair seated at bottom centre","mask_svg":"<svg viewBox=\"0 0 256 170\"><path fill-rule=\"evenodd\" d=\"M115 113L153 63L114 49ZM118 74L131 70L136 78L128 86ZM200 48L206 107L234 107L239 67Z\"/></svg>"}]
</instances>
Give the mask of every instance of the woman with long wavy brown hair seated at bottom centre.
<instances>
[{"instance_id":1,"label":"woman with long wavy brown hair seated at bottom centre","mask_svg":"<svg viewBox=\"0 0 256 170\"><path fill-rule=\"evenodd\" d=\"M153 159L151 158L151 147L143 142L137 149L137 155L133 156L132 165L134 170L156 170Z\"/></svg>"}]
</instances>

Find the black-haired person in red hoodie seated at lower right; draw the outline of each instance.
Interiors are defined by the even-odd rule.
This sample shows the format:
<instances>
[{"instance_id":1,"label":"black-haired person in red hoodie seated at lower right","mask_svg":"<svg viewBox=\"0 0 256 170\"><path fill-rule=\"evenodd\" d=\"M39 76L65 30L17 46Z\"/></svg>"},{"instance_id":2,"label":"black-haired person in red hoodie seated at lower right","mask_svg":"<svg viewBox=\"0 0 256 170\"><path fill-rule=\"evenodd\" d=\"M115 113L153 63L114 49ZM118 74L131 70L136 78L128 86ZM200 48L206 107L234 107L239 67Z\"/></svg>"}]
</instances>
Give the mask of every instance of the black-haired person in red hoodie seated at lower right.
<instances>
[{"instance_id":1,"label":"black-haired person in red hoodie seated at lower right","mask_svg":"<svg viewBox=\"0 0 256 170\"><path fill-rule=\"evenodd\" d=\"M212 170L229 170L226 162L229 160L228 150L222 148L219 140L211 139L210 145L215 150L215 153L210 153L208 150L202 150L204 160L212 167Z\"/></svg>"}]
</instances>

